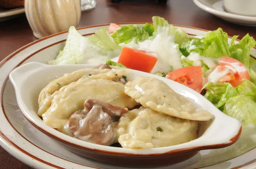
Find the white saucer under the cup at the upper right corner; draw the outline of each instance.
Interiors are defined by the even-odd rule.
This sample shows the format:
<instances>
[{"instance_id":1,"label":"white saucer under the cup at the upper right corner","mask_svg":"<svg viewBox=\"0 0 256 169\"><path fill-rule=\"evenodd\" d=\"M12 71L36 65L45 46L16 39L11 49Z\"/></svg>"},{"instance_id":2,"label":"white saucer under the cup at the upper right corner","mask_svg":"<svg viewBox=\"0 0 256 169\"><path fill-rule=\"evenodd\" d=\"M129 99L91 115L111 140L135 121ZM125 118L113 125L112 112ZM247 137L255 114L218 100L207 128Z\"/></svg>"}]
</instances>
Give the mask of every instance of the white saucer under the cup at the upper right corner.
<instances>
[{"instance_id":1,"label":"white saucer under the cup at the upper right corner","mask_svg":"<svg viewBox=\"0 0 256 169\"><path fill-rule=\"evenodd\" d=\"M248 17L238 14L231 14L224 11L223 0L193 0L194 3L204 11L214 14L231 23L239 25L256 26L256 17Z\"/></svg>"}]
</instances>

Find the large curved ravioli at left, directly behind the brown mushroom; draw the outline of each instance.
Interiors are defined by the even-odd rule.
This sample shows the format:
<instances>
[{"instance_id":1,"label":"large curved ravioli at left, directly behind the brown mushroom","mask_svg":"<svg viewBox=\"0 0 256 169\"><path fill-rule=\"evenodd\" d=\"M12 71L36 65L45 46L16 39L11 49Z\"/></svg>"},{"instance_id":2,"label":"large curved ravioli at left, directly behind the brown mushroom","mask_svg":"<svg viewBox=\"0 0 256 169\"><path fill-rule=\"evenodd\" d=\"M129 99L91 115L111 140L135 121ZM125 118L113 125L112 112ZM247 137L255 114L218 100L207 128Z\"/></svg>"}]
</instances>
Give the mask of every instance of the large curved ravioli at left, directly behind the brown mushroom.
<instances>
[{"instance_id":1,"label":"large curved ravioli at left, directly behind the brown mushroom","mask_svg":"<svg viewBox=\"0 0 256 169\"><path fill-rule=\"evenodd\" d=\"M61 87L48 96L43 115L45 124L58 130L63 130L70 116L84 108L87 98L106 101L119 107L133 108L137 105L131 97L124 93L124 85L107 79L79 79L70 85Z\"/></svg>"}]
</instances>

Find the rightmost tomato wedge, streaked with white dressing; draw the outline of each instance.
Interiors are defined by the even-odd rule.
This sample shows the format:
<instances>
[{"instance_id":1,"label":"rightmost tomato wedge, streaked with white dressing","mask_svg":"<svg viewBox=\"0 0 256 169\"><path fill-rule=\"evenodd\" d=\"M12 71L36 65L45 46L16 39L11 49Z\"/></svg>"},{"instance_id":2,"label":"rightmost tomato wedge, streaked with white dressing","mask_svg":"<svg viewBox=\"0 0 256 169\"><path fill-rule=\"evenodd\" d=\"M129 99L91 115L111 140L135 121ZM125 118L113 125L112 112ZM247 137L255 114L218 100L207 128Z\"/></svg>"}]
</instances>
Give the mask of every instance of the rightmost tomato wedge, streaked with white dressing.
<instances>
[{"instance_id":1,"label":"rightmost tomato wedge, streaked with white dressing","mask_svg":"<svg viewBox=\"0 0 256 169\"><path fill-rule=\"evenodd\" d=\"M241 85L244 79L250 80L247 68L238 60L222 56L218 63L230 69L230 73L227 73L218 82L229 82L233 87L236 87Z\"/></svg>"}]
</instances>

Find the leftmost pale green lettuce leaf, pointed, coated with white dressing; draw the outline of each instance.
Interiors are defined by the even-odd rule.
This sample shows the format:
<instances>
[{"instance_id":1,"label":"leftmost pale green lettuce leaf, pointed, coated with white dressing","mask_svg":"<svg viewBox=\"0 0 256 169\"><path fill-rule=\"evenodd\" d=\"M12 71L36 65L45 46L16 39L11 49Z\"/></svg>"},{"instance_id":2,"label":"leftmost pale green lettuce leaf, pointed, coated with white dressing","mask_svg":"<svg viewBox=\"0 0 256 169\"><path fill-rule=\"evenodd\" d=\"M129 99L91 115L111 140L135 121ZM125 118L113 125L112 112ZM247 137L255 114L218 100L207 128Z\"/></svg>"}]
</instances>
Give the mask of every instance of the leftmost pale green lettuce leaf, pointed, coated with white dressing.
<instances>
[{"instance_id":1,"label":"leftmost pale green lettuce leaf, pointed, coated with white dressing","mask_svg":"<svg viewBox=\"0 0 256 169\"><path fill-rule=\"evenodd\" d=\"M81 64L92 59L94 55L99 55L105 61L112 55L113 57L118 56L119 51L121 51L121 47L113 42L105 27L96 31L90 37L83 37L76 31L75 27L71 26L63 51L60 51L56 59L50 60L48 64ZM106 56L105 59L104 56Z\"/></svg>"}]
</instances>

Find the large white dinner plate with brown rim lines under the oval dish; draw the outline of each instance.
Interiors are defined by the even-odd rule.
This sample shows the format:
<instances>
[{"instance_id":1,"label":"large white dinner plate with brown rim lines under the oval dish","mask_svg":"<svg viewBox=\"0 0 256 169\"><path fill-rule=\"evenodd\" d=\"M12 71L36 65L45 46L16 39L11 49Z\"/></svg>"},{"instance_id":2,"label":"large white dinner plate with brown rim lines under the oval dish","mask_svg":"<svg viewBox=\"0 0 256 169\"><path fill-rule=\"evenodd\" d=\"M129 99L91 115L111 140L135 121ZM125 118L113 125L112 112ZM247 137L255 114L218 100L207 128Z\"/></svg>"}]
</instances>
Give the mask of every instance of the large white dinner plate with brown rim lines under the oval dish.
<instances>
[{"instance_id":1,"label":"large white dinner plate with brown rim lines under the oval dish","mask_svg":"<svg viewBox=\"0 0 256 169\"><path fill-rule=\"evenodd\" d=\"M79 28L82 35L92 34L102 25ZM189 34L204 34L205 30L180 27ZM224 30L225 31L225 30ZM113 169L125 167L111 166L83 158L67 149L61 148L52 138L32 126L20 112L15 90L8 75L15 67L28 62L47 63L54 59L59 50L64 47L67 32L61 32L38 39L15 51L0 63L0 145L20 161L35 168L103 168ZM256 56L256 48L251 50ZM24 87L26 90L26 87ZM228 125L228 123L227 123ZM193 158L176 165L161 169L207 169L256 167L256 126L243 126L239 140L232 146L222 149L200 151ZM113 165L114 165L113 161ZM134 164L134 167L136 165Z\"/></svg>"}]
</instances>

